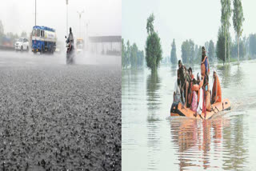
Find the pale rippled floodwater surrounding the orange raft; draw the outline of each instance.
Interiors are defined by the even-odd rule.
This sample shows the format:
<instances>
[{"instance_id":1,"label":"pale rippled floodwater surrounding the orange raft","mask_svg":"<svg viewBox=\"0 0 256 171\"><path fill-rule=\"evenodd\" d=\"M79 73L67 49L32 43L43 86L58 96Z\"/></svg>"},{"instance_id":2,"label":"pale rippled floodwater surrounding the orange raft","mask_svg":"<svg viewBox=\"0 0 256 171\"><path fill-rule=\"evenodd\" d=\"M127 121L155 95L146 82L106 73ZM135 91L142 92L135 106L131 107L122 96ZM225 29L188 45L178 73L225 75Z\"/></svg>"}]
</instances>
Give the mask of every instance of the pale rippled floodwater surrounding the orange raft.
<instances>
[{"instance_id":1,"label":"pale rippled floodwater surrounding the orange raft","mask_svg":"<svg viewBox=\"0 0 256 171\"><path fill-rule=\"evenodd\" d=\"M170 117L178 66L122 71L122 170L255 169L255 66L210 66L231 110L207 121Z\"/></svg>"}]
</instances>

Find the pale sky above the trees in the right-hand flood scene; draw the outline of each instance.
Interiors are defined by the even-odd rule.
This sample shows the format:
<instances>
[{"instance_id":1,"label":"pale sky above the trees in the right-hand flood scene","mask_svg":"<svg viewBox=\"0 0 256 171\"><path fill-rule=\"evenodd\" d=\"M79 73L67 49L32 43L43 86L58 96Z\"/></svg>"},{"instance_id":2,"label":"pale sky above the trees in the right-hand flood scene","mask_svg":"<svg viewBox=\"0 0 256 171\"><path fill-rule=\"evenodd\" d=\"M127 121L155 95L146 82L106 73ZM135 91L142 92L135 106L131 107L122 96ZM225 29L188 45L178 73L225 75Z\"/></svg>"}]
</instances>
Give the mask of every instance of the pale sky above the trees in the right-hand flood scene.
<instances>
[{"instance_id":1,"label":"pale sky above the trees in the right-hand flood scene","mask_svg":"<svg viewBox=\"0 0 256 171\"><path fill-rule=\"evenodd\" d=\"M233 8L233 1L232 8ZM242 1L243 34L256 33L255 0ZM181 45L186 39L204 46L206 41L217 41L221 26L220 0L122 0L122 38L136 42L140 50L145 50L146 18L154 12L154 27L162 42L163 56L170 55L170 45L175 38L178 58L181 58ZM234 37L232 17L230 32Z\"/></svg>"}]
</instances>

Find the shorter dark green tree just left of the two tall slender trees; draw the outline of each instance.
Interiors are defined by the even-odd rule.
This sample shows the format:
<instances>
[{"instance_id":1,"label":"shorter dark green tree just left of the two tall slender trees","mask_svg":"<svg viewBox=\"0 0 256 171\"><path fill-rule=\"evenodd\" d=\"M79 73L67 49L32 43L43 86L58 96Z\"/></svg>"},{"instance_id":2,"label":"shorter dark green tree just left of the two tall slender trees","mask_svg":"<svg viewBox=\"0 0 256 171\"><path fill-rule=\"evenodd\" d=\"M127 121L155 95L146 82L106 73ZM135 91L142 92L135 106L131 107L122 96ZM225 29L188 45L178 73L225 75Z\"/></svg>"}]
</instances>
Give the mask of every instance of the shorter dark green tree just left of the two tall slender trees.
<instances>
[{"instance_id":1,"label":"shorter dark green tree just left of the two tall slender trees","mask_svg":"<svg viewBox=\"0 0 256 171\"><path fill-rule=\"evenodd\" d=\"M217 58L223 62L223 65L224 65L224 62L226 62L226 58L225 58L226 51L225 51L224 45L225 45L224 30L222 30L222 28L219 28L218 29L218 40L217 40L217 45L216 45L216 55L217 55Z\"/></svg>"}]
</instances>

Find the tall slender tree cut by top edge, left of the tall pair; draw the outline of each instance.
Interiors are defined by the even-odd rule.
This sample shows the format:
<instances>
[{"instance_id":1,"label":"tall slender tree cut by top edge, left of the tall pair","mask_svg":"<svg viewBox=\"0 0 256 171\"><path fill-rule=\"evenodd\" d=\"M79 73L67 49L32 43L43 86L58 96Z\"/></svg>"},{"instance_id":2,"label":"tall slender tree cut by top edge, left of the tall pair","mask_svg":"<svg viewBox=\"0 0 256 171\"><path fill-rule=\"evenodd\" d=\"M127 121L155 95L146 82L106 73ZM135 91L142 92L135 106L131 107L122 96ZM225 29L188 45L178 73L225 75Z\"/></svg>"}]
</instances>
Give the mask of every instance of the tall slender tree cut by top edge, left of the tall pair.
<instances>
[{"instance_id":1,"label":"tall slender tree cut by top edge, left of the tall pair","mask_svg":"<svg viewBox=\"0 0 256 171\"><path fill-rule=\"evenodd\" d=\"M224 32L224 38L225 38L225 43L224 43L224 49L225 49L225 62L226 62L226 45L230 45L228 43L228 33L230 30L230 17L231 17L231 2L230 0L221 0L222 4L222 30ZM230 62L230 57L229 57L229 62Z\"/></svg>"}]
</instances>

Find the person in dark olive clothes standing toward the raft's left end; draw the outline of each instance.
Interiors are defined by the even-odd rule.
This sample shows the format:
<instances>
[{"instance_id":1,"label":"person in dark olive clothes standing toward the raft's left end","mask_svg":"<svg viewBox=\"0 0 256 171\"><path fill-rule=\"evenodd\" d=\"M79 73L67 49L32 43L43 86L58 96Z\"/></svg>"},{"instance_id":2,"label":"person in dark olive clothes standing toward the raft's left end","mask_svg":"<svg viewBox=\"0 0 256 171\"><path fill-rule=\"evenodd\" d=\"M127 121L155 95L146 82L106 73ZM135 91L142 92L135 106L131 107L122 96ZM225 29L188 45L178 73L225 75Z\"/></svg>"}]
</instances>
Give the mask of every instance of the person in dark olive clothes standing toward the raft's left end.
<instances>
[{"instance_id":1,"label":"person in dark olive clothes standing toward the raft's left end","mask_svg":"<svg viewBox=\"0 0 256 171\"><path fill-rule=\"evenodd\" d=\"M178 60L178 74L180 76L180 82L181 82L181 98L184 96L185 101L182 99L182 103L185 104L185 106L188 105L188 93L189 93L189 87L190 87L190 74L186 70L186 66L182 65L182 61Z\"/></svg>"}]
</instances>

